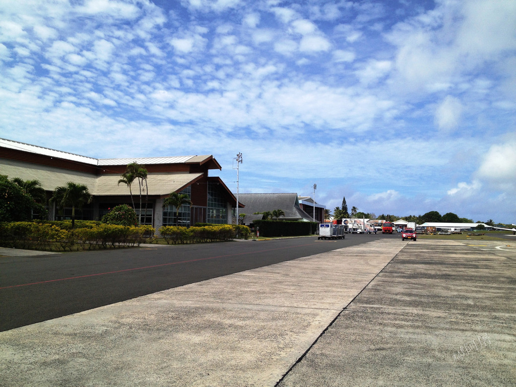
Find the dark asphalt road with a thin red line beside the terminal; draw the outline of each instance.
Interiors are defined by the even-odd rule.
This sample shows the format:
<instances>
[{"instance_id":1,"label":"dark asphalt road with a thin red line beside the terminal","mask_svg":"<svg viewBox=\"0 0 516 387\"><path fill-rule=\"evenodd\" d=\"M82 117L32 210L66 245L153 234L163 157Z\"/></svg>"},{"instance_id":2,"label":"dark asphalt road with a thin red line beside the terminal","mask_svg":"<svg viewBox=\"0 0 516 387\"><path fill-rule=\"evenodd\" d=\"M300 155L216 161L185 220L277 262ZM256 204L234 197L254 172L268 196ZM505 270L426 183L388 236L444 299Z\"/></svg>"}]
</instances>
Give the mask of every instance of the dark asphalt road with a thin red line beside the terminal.
<instances>
[{"instance_id":1,"label":"dark asphalt road with a thin red line beside the terminal","mask_svg":"<svg viewBox=\"0 0 516 387\"><path fill-rule=\"evenodd\" d=\"M0 257L0 331L399 235L347 235Z\"/></svg>"}]
</instances>

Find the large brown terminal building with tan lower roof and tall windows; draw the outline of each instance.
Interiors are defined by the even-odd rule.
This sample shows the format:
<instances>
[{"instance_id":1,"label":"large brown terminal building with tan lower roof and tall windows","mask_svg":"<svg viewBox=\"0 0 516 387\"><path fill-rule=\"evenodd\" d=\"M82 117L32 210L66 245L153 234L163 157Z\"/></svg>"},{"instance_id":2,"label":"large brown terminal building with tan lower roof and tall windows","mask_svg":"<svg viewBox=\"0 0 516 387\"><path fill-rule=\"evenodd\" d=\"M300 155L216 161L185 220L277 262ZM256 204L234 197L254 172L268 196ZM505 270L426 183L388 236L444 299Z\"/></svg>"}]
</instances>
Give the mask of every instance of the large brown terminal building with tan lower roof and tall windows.
<instances>
[{"instance_id":1,"label":"large brown terminal building with tan lower roof and tall windows","mask_svg":"<svg viewBox=\"0 0 516 387\"><path fill-rule=\"evenodd\" d=\"M88 187L93 201L82 211L76 211L77 219L99 220L118 204L132 206L128 187L118 181L127 164L134 162L148 171L148 192L142 193L142 224L152 224L157 230L162 225L175 225L176 220L185 226L196 222L231 223L236 198L220 178L208 176L209 170L221 169L212 155L96 159L0 139L0 173L8 175L9 179L39 180L47 198L56 187L70 181ZM137 181L132 191L139 212ZM180 208L179 219L174 208L163 208L163 200L171 192L187 193L192 202ZM146 204L147 213L144 213ZM239 203L239 207L244 205ZM71 208L59 214L55 204L49 207L50 219L70 216Z\"/></svg>"}]
</instances>

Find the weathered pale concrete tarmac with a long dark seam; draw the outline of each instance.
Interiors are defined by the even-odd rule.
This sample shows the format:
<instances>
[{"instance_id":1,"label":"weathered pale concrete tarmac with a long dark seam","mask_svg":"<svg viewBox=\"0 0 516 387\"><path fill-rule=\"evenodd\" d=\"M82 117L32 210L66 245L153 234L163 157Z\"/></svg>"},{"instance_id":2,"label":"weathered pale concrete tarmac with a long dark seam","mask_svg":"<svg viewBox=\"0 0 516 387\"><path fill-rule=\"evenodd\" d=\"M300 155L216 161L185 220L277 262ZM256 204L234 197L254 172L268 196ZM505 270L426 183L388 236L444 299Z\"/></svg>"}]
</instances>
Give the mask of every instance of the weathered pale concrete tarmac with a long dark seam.
<instances>
[{"instance_id":1,"label":"weathered pale concrete tarmac with a long dark seam","mask_svg":"<svg viewBox=\"0 0 516 387\"><path fill-rule=\"evenodd\" d=\"M515 276L375 240L0 332L0 386L515 385Z\"/></svg>"}]
</instances>

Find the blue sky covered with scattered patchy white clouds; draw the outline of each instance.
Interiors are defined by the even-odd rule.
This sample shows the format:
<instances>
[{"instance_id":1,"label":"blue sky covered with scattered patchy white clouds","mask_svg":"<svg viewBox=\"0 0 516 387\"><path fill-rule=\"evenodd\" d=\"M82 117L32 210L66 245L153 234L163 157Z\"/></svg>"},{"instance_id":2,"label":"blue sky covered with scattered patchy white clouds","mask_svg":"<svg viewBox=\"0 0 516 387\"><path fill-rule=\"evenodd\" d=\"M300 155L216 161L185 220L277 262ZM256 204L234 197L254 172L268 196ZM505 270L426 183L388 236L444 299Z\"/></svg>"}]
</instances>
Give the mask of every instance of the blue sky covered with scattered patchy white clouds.
<instances>
[{"instance_id":1,"label":"blue sky covered with scattered patchy white clouds","mask_svg":"<svg viewBox=\"0 0 516 387\"><path fill-rule=\"evenodd\" d=\"M0 137L516 223L516 1L3 0Z\"/></svg>"}]
</instances>

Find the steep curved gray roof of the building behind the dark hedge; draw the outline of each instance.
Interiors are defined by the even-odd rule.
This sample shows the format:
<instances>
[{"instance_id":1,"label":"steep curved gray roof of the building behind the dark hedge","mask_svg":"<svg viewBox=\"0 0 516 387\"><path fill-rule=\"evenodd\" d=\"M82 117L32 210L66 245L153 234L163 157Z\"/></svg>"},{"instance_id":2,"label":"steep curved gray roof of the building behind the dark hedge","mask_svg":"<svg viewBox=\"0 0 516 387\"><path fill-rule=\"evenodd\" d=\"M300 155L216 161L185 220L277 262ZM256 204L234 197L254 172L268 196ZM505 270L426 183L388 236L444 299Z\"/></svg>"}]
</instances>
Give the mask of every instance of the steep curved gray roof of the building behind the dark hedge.
<instances>
[{"instance_id":1,"label":"steep curved gray roof of the building behind the dark hedge","mask_svg":"<svg viewBox=\"0 0 516 387\"><path fill-rule=\"evenodd\" d=\"M238 201L245 204L245 214L282 209L285 216L280 219L314 221L299 206L297 193L240 193Z\"/></svg>"}]
</instances>

